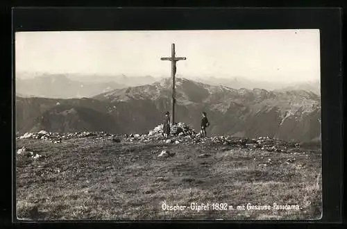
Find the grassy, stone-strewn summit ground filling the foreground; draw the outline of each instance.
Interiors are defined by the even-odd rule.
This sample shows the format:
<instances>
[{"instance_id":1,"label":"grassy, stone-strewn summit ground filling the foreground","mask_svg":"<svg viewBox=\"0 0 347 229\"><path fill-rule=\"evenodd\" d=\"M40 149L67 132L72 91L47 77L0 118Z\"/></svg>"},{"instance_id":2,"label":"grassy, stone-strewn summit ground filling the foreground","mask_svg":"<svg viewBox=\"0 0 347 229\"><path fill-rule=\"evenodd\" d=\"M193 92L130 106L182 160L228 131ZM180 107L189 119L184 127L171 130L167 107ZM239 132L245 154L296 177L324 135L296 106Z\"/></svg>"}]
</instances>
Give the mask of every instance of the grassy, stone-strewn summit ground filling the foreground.
<instances>
[{"instance_id":1,"label":"grassy, stone-strewn summit ground filling the foreground","mask_svg":"<svg viewBox=\"0 0 347 229\"><path fill-rule=\"evenodd\" d=\"M184 125L173 131L170 139L162 138L160 127L146 135L18 136L17 218L321 217L316 144L269 137L202 139Z\"/></svg>"}]
</instances>

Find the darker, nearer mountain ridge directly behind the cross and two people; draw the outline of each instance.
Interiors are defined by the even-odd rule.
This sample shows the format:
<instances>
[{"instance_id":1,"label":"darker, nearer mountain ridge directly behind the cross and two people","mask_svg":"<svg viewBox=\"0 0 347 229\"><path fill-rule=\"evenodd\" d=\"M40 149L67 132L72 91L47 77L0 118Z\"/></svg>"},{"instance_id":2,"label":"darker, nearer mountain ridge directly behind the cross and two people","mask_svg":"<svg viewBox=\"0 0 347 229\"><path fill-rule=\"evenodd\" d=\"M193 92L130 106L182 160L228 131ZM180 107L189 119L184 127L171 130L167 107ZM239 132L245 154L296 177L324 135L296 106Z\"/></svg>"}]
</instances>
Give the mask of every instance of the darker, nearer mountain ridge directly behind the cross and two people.
<instances>
[{"instance_id":1,"label":"darker, nearer mountain ridge directly behind the cross and two people","mask_svg":"<svg viewBox=\"0 0 347 229\"><path fill-rule=\"evenodd\" d=\"M176 80L176 121L198 130L208 113L210 135L278 137L308 142L321 136L320 96L305 90L232 89ZM16 97L19 133L107 131L148 133L171 110L171 80L124 87L90 99Z\"/></svg>"}]
</instances>

